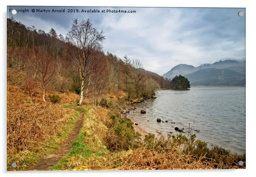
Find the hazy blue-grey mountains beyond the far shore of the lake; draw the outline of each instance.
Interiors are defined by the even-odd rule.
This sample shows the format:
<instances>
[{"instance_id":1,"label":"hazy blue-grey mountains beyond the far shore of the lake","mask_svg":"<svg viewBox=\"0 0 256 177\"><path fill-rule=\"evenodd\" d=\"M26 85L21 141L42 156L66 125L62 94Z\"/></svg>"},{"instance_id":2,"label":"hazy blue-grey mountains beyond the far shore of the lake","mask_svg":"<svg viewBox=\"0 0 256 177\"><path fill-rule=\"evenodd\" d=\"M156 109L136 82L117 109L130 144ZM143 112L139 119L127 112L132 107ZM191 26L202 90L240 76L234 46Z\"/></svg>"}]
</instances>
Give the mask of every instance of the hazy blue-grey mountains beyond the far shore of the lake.
<instances>
[{"instance_id":1,"label":"hazy blue-grey mountains beyond the far shore of the lake","mask_svg":"<svg viewBox=\"0 0 256 177\"><path fill-rule=\"evenodd\" d=\"M198 67L180 64L165 73L163 77L173 79L179 75L188 78L191 85L245 85L245 60L220 60Z\"/></svg>"}]
</instances>

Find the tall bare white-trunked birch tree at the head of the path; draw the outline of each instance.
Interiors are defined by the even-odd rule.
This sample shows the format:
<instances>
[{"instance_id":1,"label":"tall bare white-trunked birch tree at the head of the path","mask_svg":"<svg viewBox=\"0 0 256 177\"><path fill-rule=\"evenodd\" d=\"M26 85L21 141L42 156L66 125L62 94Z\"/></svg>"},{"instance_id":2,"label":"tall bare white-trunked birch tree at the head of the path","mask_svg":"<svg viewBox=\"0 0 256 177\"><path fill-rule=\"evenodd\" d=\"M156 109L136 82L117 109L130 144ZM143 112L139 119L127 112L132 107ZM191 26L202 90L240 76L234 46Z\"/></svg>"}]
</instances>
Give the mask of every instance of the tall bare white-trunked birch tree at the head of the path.
<instances>
[{"instance_id":1,"label":"tall bare white-trunked birch tree at the head of the path","mask_svg":"<svg viewBox=\"0 0 256 177\"><path fill-rule=\"evenodd\" d=\"M88 65L94 59L93 52L101 50L105 35L103 31L94 28L90 19L86 21L74 19L67 37L69 42L75 46L75 48L72 48L72 55L79 66L81 93L78 104L81 105L84 97L85 78L91 74L88 73L90 70Z\"/></svg>"}]
</instances>

